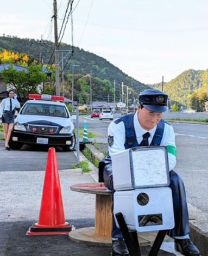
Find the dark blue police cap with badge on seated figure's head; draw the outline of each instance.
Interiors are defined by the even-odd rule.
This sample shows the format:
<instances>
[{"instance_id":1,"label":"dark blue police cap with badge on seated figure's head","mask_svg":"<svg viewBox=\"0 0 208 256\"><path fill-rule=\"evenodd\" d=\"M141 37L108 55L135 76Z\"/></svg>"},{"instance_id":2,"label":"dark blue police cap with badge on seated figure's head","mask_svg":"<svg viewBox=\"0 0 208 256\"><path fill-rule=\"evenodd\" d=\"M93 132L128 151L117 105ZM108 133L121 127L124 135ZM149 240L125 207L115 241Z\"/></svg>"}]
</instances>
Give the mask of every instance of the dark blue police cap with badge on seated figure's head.
<instances>
[{"instance_id":1,"label":"dark blue police cap with badge on seated figure's head","mask_svg":"<svg viewBox=\"0 0 208 256\"><path fill-rule=\"evenodd\" d=\"M167 111L168 95L161 90L147 89L140 93L138 102L149 111L165 112Z\"/></svg>"}]
</instances>

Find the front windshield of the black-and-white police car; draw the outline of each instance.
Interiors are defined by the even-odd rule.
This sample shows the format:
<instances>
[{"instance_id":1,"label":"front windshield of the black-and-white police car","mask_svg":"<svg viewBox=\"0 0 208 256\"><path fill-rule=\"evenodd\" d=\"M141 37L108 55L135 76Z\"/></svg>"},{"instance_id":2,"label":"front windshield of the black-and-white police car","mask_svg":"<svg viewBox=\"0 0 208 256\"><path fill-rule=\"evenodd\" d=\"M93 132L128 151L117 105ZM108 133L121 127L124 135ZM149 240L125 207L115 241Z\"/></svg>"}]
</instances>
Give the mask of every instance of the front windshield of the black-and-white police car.
<instances>
[{"instance_id":1,"label":"front windshield of the black-and-white police car","mask_svg":"<svg viewBox=\"0 0 208 256\"><path fill-rule=\"evenodd\" d=\"M23 115L47 115L49 117L68 118L68 112L65 106L50 103L27 103L21 109Z\"/></svg>"}]
</instances>

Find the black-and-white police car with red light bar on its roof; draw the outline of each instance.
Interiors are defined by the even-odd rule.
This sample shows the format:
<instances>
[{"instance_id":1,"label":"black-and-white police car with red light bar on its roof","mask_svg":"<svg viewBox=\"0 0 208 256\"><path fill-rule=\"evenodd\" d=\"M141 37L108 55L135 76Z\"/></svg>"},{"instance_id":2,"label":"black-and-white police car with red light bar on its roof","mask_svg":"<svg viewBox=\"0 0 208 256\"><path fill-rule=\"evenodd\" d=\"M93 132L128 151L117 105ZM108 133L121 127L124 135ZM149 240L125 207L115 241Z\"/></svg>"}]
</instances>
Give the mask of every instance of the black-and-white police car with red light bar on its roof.
<instances>
[{"instance_id":1,"label":"black-and-white police car with red light bar on its roof","mask_svg":"<svg viewBox=\"0 0 208 256\"><path fill-rule=\"evenodd\" d=\"M72 117L64 97L47 94L29 94L20 113L15 118L10 138L11 149L27 145L48 145L73 151L75 134Z\"/></svg>"}]
</instances>

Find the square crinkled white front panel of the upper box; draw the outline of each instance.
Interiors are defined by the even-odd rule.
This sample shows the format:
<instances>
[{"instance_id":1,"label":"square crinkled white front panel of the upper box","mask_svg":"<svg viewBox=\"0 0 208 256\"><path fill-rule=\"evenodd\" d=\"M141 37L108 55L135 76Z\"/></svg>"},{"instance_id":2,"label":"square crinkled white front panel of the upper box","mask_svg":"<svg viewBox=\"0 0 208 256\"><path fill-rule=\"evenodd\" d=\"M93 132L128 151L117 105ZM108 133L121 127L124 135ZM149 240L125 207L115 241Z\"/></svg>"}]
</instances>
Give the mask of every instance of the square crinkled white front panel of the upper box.
<instances>
[{"instance_id":1,"label":"square crinkled white front panel of the upper box","mask_svg":"<svg viewBox=\"0 0 208 256\"><path fill-rule=\"evenodd\" d=\"M158 147L155 149L136 149L131 151L131 170L134 175L134 187L167 185L167 151Z\"/></svg>"}]
</instances>

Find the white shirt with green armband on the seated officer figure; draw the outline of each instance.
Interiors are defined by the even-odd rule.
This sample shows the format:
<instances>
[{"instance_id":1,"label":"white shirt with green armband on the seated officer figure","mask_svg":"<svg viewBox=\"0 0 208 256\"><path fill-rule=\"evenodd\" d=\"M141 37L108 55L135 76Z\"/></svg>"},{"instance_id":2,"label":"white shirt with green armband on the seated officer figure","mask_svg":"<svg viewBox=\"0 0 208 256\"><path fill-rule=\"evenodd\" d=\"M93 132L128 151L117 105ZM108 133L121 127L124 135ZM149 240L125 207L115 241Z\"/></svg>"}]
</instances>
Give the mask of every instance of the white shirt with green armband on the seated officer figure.
<instances>
[{"instance_id":1,"label":"white shirt with green armband on the seated officer figure","mask_svg":"<svg viewBox=\"0 0 208 256\"><path fill-rule=\"evenodd\" d=\"M134 129L136 133L137 143L140 144L143 139L143 135L149 132L150 137L148 138L149 145L152 142L154 133L156 131L156 126L147 131L144 130L138 121L138 112L134 115ZM108 136L112 137L112 143L109 145L109 155L125 150L125 126L123 121L115 123L114 121L110 123L108 127ZM173 170L176 165L176 148L175 148L175 135L173 127L165 123L165 129L162 136L161 146L166 146L168 151L168 162L169 170Z\"/></svg>"}]
</instances>

